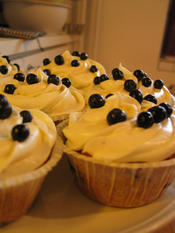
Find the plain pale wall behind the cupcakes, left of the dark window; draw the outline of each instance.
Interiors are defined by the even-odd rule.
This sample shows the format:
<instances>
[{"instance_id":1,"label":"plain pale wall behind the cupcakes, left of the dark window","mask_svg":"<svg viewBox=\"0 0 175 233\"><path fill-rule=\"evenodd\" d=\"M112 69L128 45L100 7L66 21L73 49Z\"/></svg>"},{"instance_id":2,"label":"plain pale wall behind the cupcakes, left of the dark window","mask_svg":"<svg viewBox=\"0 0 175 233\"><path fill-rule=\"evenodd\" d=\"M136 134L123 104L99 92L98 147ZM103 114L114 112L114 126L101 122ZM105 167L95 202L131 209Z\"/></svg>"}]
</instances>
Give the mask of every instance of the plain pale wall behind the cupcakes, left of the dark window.
<instances>
[{"instance_id":1,"label":"plain pale wall behind the cupcakes, left of the dark window","mask_svg":"<svg viewBox=\"0 0 175 233\"><path fill-rule=\"evenodd\" d=\"M157 69L168 6L169 0L88 0L86 50L108 72L122 62L172 83L175 73Z\"/></svg>"}]
</instances>

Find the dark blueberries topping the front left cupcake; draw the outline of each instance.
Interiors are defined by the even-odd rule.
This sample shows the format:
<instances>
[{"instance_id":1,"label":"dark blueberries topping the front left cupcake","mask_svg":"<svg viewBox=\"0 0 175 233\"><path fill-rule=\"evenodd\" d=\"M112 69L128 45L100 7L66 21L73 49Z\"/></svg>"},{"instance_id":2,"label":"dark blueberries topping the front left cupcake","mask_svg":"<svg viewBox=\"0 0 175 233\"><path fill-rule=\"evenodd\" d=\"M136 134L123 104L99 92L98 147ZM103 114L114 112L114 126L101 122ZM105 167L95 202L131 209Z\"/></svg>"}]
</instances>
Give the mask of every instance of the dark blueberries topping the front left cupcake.
<instances>
[{"instance_id":1,"label":"dark blueberries topping the front left cupcake","mask_svg":"<svg viewBox=\"0 0 175 233\"><path fill-rule=\"evenodd\" d=\"M8 103L7 98L4 95L0 95L0 119L8 119L12 114L12 106ZM23 123L32 121L32 114L28 111L20 112L23 118ZM18 124L12 128L11 135L14 141L23 142L29 136L29 128L27 125Z\"/></svg>"}]
</instances>

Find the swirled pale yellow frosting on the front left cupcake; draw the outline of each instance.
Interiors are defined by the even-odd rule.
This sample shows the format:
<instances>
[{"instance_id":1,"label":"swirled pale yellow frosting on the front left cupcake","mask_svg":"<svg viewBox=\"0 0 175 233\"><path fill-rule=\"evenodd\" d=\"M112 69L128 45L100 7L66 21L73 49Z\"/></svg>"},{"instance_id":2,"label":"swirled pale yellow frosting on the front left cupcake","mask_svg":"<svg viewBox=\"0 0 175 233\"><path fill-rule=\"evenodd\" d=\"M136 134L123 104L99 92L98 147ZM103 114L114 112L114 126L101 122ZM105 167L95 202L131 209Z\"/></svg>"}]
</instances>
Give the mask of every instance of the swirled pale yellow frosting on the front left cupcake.
<instances>
[{"instance_id":1,"label":"swirled pale yellow frosting on the front left cupcake","mask_svg":"<svg viewBox=\"0 0 175 233\"><path fill-rule=\"evenodd\" d=\"M22 142L12 137L12 128L22 124L20 109L13 107L7 119L0 120L0 179L32 171L48 159L55 144L53 121L39 110L31 110L32 121L24 123L29 136Z\"/></svg>"}]
</instances>

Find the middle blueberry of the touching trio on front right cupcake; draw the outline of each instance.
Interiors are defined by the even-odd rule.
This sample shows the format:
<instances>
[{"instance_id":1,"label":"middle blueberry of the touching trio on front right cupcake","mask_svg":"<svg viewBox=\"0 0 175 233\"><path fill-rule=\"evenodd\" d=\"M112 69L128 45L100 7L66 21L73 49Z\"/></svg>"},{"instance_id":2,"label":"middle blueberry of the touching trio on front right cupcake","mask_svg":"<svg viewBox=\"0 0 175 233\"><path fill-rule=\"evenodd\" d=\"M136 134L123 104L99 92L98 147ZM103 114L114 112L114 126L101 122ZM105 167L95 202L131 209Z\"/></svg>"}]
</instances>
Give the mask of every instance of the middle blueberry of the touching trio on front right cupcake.
<instances>
[{"instance_id":1,"label":"middle blueberry of the touching trio on front right cupcake","mask_svg":"<svg viewBox=\"0 0 175 233\"><path fill-rule=\"evenodd\" d=\"M167 117L166 109L161 106L152 107L148 111L152 113L155 123L159 123Z\"/></svg>"}]
</instances>

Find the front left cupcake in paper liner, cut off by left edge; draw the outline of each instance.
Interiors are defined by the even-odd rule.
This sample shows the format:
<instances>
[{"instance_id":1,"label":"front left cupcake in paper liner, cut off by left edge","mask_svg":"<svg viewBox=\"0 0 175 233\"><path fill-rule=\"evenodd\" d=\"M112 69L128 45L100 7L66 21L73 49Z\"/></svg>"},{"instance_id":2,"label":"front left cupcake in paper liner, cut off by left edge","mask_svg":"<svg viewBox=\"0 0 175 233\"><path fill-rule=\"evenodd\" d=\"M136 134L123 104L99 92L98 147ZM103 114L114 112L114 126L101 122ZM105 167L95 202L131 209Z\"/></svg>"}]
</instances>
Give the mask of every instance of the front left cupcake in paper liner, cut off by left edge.
<instances>
[{"instance_id":1,"label":"front left cupcake in paper liner, cut off by left edge","mask_svg":"<svg viewBox=\"0 0 175 233\"><path fill-rule=\"evenodd\" d=\"M0 225L26 213L45 176L61 157L53 121L20 110L0 95Z\"/></svg>"}]
</instances>

